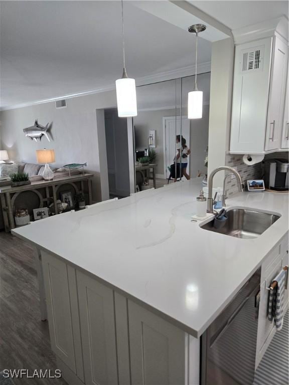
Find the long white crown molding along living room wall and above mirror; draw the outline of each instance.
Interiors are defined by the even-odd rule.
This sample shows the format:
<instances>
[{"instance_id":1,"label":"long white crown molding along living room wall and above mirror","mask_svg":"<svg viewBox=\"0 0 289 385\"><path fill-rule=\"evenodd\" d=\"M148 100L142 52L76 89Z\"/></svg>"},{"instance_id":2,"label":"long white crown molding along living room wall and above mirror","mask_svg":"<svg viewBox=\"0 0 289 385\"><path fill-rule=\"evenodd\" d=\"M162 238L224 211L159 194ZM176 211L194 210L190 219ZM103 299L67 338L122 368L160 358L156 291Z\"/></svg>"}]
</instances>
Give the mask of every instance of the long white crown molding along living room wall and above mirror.
<instances>
[{"instance_id":1,"label":"long white crown molding along living room wall and above mirror","mask_svg":"<svg viewBox=\"0 0 289 385\"><path fill-rule=\"evenodd\" d=\"M135 79L136 86L144 86L146 84L152 84L152 83L159 83L164 82L166 80L173 80L178 78L183 78L187 76L192 76L195 74L196 66L187 66L183 68L179 68L176 70L171 71L164 71L159 72L155 75L149 75L149 76L143 76L140 78ZM211 72L211 62L205 62L198 64L197 68L197 74L203 74L206 72ZM24 107L30 107L37 104L44 104L44 103L51 103L56 102L57 100L61 99L71 99L71 98L77 98L79 96L86 96L86 95L93 95L98 94L100 92L108 92L115 90L115 84L110 84L105 87L99 87L88 91L82 91L74 94L68 94L68 95L62 95L55 98L50 99L42 99L42 100L36 100L33 102L27 102L27 103L21 103L21 104L15 104L11 106L3 106L0 108L0 111L6 111L6 110L13 110L16 108L24 108Z\"/></svg>"}]
</instances>

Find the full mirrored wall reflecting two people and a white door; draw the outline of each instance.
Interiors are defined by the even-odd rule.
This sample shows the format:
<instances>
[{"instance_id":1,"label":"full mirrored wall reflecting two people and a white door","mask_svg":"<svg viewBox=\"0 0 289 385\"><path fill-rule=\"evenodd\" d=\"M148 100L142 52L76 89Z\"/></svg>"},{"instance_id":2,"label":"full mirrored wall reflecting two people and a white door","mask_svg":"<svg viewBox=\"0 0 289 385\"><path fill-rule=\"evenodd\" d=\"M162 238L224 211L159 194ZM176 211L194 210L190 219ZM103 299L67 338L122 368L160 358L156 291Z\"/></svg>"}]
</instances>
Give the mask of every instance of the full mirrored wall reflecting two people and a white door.
<instances>
[{"instance_id":1,"label":"full mirrored wall reflecting two people and a white door","mask_svg":"<svg viewBox=\"0 0 289 385\"><path fill-rule=\"evenodd\" d=\"M197 176L206 183L210 73L198 75L198 83L204 92L203 118L193 120L187 117L187 98L194 76L136 88L136 191Z\"/></svg>"}]
</instances>

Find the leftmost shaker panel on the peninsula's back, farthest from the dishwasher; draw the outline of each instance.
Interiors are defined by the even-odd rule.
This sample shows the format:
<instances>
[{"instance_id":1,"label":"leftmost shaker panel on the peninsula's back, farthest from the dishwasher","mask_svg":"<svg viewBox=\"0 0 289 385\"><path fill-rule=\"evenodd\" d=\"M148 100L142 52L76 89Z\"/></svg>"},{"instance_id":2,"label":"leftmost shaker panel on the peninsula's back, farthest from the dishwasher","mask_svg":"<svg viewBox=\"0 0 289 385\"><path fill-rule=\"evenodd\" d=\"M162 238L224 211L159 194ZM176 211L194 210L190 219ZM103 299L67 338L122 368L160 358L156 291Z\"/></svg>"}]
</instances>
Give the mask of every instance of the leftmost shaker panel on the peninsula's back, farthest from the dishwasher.
<instances>
[{"instance_id":1,"label":"leftmost shaker panel on the peninsula's back, farthest from the dishwasher","mask_svg":"<svg viewBox=\"0 0 289 385\"><path fill-rule=\"evenodd\" d=\"M52 350L76 373L67 265L41 252Z\"/></svg>"}]
</instances>

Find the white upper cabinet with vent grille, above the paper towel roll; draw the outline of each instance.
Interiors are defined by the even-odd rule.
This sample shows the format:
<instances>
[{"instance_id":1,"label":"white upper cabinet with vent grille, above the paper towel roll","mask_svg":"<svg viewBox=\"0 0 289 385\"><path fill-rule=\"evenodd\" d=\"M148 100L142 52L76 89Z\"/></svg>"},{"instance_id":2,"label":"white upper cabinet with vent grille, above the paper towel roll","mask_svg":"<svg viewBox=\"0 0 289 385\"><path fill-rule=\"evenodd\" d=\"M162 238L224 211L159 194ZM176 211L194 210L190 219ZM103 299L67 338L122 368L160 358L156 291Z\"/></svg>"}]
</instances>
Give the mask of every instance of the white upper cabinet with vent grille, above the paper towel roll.
<instances>
[{"instance_id":1,"label":"white upper cabinet with vent grille, above the paper towel roll","mask_svg":"<svg viewBox=\"0 0 289 385\"><path fill-rule=\"evenodd\" d=\"M281 147L288 46L279 36L236 46L231 153Z\"/></svg>"}]
</instances>

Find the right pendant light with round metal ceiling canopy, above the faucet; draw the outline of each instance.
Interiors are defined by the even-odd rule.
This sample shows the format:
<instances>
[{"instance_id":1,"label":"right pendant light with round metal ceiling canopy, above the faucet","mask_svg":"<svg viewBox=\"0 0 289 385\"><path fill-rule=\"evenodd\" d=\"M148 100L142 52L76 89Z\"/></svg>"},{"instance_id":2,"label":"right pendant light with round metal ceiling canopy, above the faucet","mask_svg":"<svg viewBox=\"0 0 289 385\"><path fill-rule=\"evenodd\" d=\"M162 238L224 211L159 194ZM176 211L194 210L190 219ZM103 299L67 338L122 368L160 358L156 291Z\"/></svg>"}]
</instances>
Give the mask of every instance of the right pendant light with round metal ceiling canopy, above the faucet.
<instances>
[{"instance_id":1,"label":"right pendant light with round metal ceiling canopy, above the faucet","mask_svg":"<svg viewBox=\"0 0 289 385\"><path fill-rule=\"evenodd\" d=\"M189 32L196 34L196 74L194 91L188 93L188 119L200 119L203 116L203 91L197 87L197 61L198 61L198 35L205 31L203 24L194 24L189 27Z\"/></svg>"}]
</instances>

